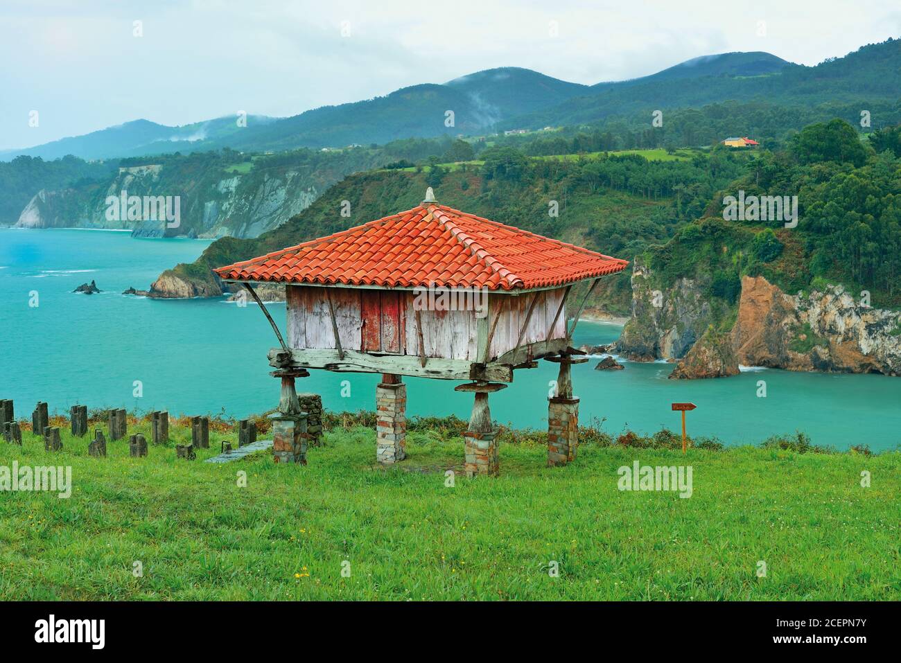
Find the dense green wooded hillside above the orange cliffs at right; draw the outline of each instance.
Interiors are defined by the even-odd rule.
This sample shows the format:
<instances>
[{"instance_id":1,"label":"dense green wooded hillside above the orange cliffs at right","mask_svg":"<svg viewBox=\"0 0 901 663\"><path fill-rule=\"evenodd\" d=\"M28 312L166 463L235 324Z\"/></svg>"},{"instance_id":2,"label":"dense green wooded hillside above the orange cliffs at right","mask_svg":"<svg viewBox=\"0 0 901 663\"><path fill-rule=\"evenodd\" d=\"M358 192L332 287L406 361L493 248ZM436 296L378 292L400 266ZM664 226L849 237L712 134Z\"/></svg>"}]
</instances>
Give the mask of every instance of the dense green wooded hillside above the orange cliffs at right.
<instances>
[{"instance_id":1,"label":"dense green wooded hillside above the orange cliffs at right","mask_svg":"<svg viewBox=\"0 0 901 663\"><path fill-rule=\"evenodd\" d=\"M897 129L878 134L881 139ZM785 292L839 283L867 290L874 305L901 305L901 159L861 143L847 123L807 127L782 150L764 152L714 196L705 213L645 253L669 287L705 280L709 296L733 304L744 275ZM794 228L782 220L724 220L723 199L797 196Z\"/></svg>"}]
</instances>

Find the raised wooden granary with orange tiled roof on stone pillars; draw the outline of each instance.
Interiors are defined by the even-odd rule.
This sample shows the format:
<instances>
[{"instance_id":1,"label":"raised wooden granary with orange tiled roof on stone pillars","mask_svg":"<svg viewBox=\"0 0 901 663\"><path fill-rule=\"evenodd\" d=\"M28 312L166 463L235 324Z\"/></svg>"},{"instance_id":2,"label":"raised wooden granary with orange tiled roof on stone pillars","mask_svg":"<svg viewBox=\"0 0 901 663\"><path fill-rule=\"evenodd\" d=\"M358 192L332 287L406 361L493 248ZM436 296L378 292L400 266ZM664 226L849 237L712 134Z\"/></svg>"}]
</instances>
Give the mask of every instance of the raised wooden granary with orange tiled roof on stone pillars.
<instances>
[{"instance_id":1,"label":"raised wooden granary with orange tiled roof on stone pillars","mask_svg":"<svg viewBox=\"0 0 901 663\"><path fill-rule=\"evenodd\" d=\"M430 188L413 209L215 271L247 288L278 338L268 353L282 380L277 460L305 462L306 426L282 431L278 422L305 415L295 377L309 369L382 375L377 459L385 465L406 455L403 376L432 377L466 380L457 390L474 395L464 436L473 476L499 471L488 395L536 359L560 363L548 463L575 457L569 368L584 352L572 347L572 332L597 280L627 264L438 204ZM566 306L582 282L590 287L570 323ZM287 286L287 341L253 289L259 283Z\"/></svg>"}]
</instances>

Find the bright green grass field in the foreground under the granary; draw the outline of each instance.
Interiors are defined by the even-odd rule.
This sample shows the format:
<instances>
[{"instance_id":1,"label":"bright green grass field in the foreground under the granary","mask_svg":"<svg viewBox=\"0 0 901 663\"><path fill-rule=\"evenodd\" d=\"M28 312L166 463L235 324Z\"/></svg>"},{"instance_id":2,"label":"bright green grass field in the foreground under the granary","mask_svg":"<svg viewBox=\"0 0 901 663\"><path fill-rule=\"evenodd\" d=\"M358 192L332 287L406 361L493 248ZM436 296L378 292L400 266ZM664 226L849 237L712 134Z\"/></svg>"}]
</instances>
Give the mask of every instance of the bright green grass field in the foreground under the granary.
<instances>
[{"instance_id":1,"label":"bright green grass field in the foreground under the granary","mask_svg":"<svg viewBox=\"0 0 901 663\"><path fill-rule=\"evenodd\" d=\"M129 428L150 444L146 422ZM69 499L0 494L0 599L901 598L898 452L586 443L545 468L523 436L502 444L500 477L449 487L462 442L434 431L410 432L389 470L359 426L327 432L306 467L204 463L234 440L214 431L215 449L178 460L189 431L171 437L144 459L125 440L88 457L68 431L56 453L26 431L21 448L0 441L0 465L70 465L73 485ZM690 465L693 495L619 491L617 468L636 459Z\"/></svg>"}]
</instances>

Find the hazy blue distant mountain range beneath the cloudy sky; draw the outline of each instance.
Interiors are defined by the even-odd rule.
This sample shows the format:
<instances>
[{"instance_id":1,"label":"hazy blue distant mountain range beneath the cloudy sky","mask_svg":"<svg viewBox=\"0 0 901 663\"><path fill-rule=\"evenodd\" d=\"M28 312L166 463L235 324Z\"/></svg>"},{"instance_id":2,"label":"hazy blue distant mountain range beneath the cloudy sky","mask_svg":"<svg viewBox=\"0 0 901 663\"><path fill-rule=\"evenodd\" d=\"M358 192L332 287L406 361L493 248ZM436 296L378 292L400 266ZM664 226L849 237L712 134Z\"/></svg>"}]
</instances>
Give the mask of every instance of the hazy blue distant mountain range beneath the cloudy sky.
<instances>
[{"instance_id":1,"label":"hazy blue distant mountain range beneath the cloudy sky","mask_svg":"<svg viewBox=\"0 0 901 663\"><path fill-rule=\"evenodd\" d=\"M786 67L797 66L764 52L721 53L690 59L651 76L594 86L570 83L531 69L494 68L441 85L409 86L385 96L323 106L287 118L249 115L246 126L239 126L236 116L178 127L134 120L32 148L2 150L0 160L18 155L59 159L68 154L81 159L111 159L224 147L246 151L322 149L442 134L473 135L520 124L538 128L536 123L559 124L555 116L569 114L568 104L574 109L590 107L599 97L609 103L611 93L629 95L628 91L636 88L673 82L684 85L687 80L696 81L704 89L703 80L709 77L767 77Z\"/></svg>"}]
</instances>

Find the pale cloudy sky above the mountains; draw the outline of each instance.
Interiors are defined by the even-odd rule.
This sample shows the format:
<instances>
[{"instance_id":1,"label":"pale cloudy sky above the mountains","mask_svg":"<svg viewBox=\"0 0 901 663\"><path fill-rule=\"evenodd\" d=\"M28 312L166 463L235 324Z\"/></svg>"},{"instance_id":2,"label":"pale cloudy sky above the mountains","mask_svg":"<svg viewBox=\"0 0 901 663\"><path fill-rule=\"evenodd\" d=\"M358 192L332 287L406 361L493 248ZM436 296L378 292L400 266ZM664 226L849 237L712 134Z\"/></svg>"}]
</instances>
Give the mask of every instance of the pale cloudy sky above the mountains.
<instances>
[{"instance_id":1,"label":"pale cloudy sky above the mountains","mask_svg":"<svg viewBox=\"0 0 901 663\"><path fill-rule=\"evenodd\" d=\"M815 65L899 36L896 0L3 0L0 149L138 118L293 115L485 68L592 84L732 50Z\"/></svg>"}]
</instances>

